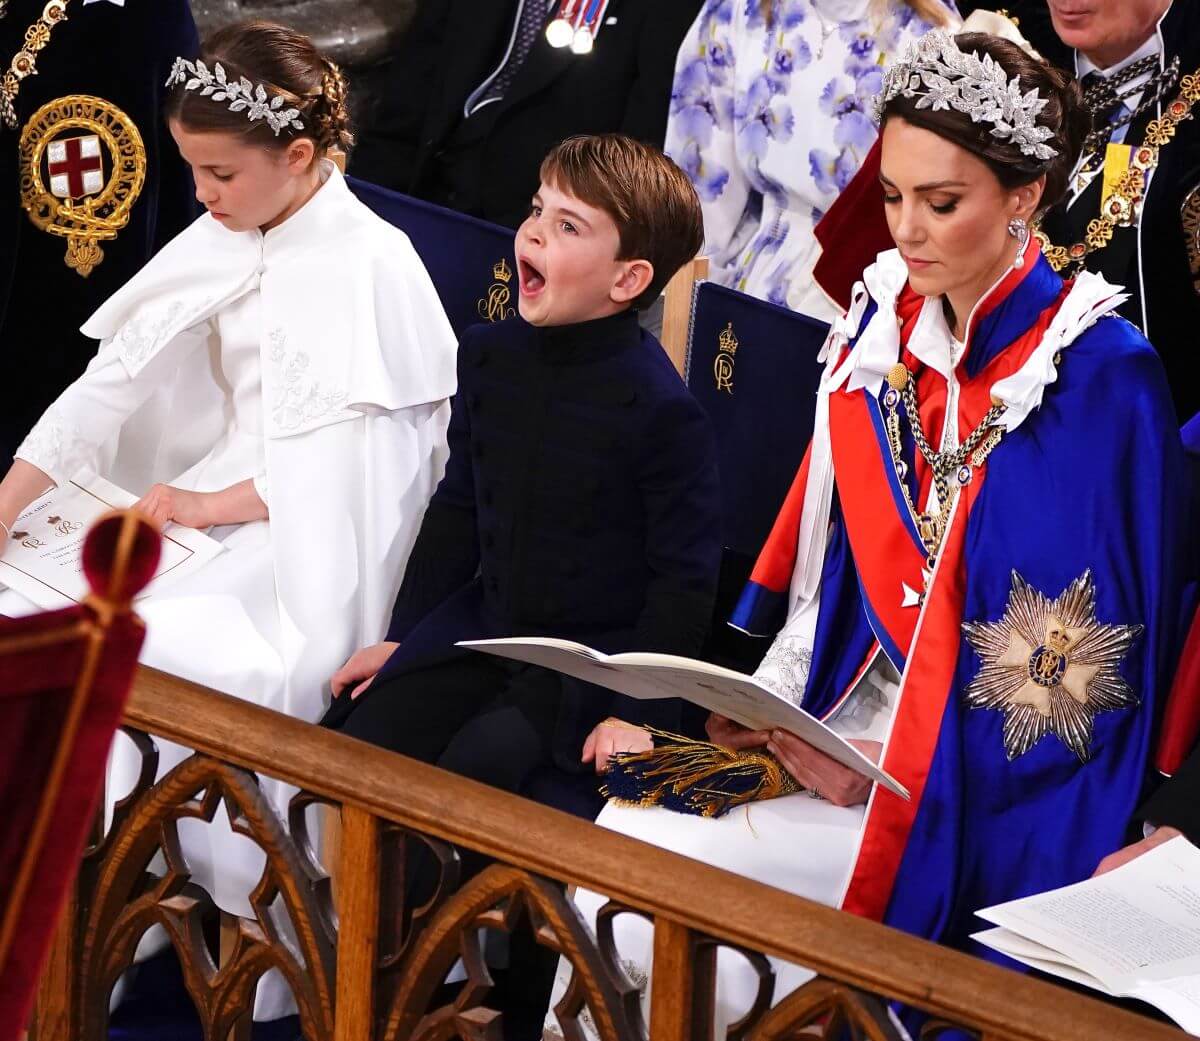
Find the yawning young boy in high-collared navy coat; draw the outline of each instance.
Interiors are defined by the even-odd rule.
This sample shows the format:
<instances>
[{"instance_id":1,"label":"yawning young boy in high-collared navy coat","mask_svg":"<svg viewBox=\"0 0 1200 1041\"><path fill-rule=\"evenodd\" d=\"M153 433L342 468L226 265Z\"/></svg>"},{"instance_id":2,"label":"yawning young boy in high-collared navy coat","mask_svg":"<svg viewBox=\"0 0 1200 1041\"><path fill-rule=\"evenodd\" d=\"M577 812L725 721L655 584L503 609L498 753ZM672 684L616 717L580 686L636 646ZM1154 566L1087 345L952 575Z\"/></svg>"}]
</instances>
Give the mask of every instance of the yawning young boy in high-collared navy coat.
<instances>
[{"instance_id":1,"label":"yawning young boy in high-collared navy coat","mask_svg":"<svg viewBox=\"0 0 1200 1041\"><path fill-rule=\"evenodd\" d=\"M335 674L325 724L504 788L600 771L679 726L457 640L556 636L604 651L700 651L720 564L708 419L636 311L700 249L700 203L656 149L571 138L516 236L520 318L469 329L445 477L385 643ZM611 721L611 722L606 722Z\"/></svg>"}]
</instances>

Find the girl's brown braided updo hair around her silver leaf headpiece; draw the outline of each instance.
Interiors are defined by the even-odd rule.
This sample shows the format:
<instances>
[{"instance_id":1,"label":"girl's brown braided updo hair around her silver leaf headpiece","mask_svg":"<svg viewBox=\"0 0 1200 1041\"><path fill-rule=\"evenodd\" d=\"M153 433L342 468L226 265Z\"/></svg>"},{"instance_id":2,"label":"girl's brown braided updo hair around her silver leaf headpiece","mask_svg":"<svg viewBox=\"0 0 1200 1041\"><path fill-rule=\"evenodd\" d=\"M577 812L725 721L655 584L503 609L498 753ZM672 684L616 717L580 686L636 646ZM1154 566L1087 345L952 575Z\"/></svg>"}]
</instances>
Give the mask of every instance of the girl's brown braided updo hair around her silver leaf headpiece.
<instances>
[{"instance_id":1,"label":"girl's brown braided updo hair around her silver leaf headpiece","mask_svg":"<svg viewBox=\"0 0 1200 1041\"><path fill-rule=\"evenodd\" d=\"M278 134L265 119L251 120L226 102L176 84L167 100L167 118L193 133L232 133L269 149L284 149L310 138L317 154L348 152L354 144L346 78L302 32L274 22L227 25L204 41L200 59L211 71L221 65L229 80L248 79L271 98L295 108L304 130L283 127Z\"/></svg>"}]
</instances>

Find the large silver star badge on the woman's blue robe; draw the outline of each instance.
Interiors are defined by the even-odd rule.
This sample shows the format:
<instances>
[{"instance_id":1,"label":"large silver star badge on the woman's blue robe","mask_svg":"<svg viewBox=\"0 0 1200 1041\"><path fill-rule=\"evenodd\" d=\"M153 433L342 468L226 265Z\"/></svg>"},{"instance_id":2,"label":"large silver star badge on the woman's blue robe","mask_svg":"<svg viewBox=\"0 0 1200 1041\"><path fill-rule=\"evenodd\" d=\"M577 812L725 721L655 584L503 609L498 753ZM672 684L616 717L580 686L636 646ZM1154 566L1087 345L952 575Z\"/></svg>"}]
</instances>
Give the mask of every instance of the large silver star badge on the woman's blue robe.
<instances>
[{"instance_id":1,"label":"large silver star badge on the woman's blue robe","mask_svg":"<svg viewBox=\"0 0 1200 1041\"><path fill-rule=\"evenodd\" d=\"M983 662L964 696L1004 712L1010 760L1052 733L1086 763L1096 714L1138 704L1117 668L1142 628L1097 621L1090 570L1054 601L1014 571L1004 616L962 625Z\"/></svg>"}]
</instances>

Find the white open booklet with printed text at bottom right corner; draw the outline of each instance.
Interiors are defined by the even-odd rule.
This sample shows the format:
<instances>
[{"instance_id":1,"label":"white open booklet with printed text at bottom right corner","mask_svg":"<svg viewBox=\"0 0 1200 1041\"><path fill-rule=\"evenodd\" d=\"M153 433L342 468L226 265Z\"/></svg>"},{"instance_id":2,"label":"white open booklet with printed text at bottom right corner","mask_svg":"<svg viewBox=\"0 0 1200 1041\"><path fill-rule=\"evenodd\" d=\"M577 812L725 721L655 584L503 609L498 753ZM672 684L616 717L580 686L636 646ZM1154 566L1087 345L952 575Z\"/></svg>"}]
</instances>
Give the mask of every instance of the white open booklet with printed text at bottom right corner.
<instances>
[{"instance_id":1,"label":"white open booklet with printed text at bottom right corner","mask_svg":"<svg viewBox=\"0 0 1200 1041\"><path fill-rule=\"evenodd\" d=\"M1200 849L1172 838L1098 878L977 911L973 939L1200 1035Z\"/></svg>"}]
</instances>

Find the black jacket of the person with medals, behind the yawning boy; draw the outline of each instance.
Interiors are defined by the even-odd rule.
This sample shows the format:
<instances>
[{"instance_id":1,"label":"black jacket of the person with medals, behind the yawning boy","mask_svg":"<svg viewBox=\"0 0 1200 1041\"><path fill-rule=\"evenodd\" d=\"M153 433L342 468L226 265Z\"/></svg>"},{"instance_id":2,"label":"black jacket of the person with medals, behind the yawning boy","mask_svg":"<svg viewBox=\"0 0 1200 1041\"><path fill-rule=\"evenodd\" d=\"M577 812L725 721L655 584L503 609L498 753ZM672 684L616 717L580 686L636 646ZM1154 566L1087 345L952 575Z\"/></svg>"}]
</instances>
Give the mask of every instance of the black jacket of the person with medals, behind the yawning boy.
<instances>
[{"instance_id":1,"label":"black jacket of the person with medals, behind the yawning boy","mask_svg":"<svg viewBox=\"0 0 1200 1041\"><path fill-rule=\"evenodd\" d=\"M384 98L362 127L355 176L516 227L538 189L546 152L577 133L619 131L662 145L676 53L701 0L611 0L588 55L556 50L539 35L506 96L488 113L478 161L479 205L431 194L437 154L463 106L508 47L515 0L421 0L400 44ZM479 119L480 116L475 116Z\"/></svg>"}]
</instances>

